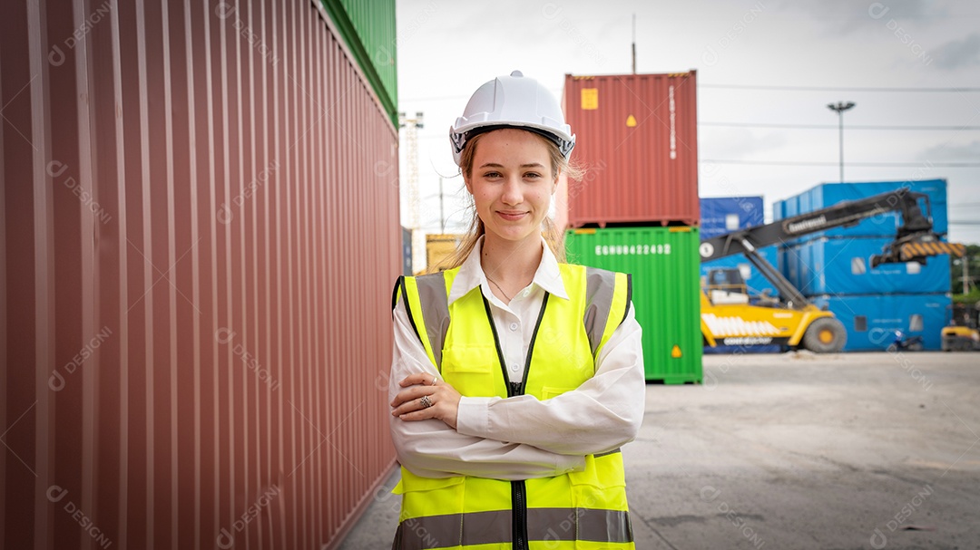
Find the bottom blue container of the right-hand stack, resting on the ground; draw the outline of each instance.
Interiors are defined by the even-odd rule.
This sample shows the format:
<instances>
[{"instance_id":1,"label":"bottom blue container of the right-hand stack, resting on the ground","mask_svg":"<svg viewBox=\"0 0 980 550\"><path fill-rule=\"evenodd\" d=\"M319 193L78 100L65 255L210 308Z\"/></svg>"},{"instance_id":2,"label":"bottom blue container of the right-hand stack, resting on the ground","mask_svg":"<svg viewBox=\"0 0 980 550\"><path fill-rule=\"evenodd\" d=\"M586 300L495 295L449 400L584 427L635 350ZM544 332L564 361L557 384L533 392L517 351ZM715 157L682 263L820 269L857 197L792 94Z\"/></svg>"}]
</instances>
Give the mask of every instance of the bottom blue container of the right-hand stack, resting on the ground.
<instances>
[{"instance_id":1,"label":"bottom blue container of the right-hand stack, resting on the ground","mask_svg":"<svg viewBox=\"0 0 980 550\"><path fill-rule=\"evenodd\" d=\"M844 351L880 351L895 340L895 331L920 336L926 349L940 348L940 331L950 317L949 295L823 296L814 298L844 323Z\"/></svg>"}]
</instances>

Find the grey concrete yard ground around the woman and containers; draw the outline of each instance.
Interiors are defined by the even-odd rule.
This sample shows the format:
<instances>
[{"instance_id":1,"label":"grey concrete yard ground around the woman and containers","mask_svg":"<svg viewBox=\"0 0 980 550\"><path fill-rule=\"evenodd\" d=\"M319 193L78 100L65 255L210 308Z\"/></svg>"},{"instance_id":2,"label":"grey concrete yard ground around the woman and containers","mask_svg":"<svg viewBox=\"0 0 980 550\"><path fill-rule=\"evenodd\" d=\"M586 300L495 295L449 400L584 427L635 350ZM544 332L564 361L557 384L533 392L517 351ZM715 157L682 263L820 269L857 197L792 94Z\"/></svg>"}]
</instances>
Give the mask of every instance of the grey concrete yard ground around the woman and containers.
<instances>
[{"instance_id":1,"label":"grey concrete yard ground around the woman and containers","mask_svg":"<svg viewBox=\"0 0 980 550\"><path fill-rule=\"evenodd\" d=\"M623 447L636 547L980 549L978 443L980 353L706 356ZM379 491L340 548L397 521Z\"/></svg>"}]
</instances>

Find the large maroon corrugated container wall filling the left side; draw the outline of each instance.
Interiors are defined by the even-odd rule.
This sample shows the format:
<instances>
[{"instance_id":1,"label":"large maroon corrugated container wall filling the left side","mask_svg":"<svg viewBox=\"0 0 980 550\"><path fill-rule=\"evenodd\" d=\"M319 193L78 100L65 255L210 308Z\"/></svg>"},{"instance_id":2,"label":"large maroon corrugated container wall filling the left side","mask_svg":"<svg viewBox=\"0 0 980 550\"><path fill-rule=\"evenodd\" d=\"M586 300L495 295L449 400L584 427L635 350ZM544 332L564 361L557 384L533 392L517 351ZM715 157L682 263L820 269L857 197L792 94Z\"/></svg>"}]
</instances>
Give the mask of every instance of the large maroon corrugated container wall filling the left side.
<instances>
[{"instance_id":1,"label":"large maroon corrugated container wall filling the left side","mask_svg":"<svg viewBox=\"0 0 980 550\"><path fill-rule=\"evenodd\" d=\"M5 4L0 547L330 547L391 471L398 137L327 20Z\"/></svg>"}]
</instances>

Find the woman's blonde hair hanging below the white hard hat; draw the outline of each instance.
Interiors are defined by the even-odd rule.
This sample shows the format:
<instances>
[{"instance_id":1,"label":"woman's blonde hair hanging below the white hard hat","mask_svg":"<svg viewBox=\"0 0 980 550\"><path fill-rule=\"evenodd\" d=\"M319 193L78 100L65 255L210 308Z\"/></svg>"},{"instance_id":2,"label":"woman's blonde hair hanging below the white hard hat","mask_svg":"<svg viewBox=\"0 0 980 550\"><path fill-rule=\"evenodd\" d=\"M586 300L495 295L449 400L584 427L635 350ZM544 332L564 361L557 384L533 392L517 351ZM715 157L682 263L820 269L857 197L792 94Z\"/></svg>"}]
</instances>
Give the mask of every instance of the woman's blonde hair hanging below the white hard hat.
<instances>
[{"instance_id":1,"label":"woman's blonde hair hanging below the white hard hat","mask_svg":"<svg viewBox=\"0 0 980 550\"><path fill-rule=\"evenodd\" d=\"M555 181L558 181L559 172L564 172L568 179L582 179L582 177L585 175L585 170L578 164L565 159L555 142L540 134L534 132L528 133L536 136L542 141L542 143L548 146L548 154L551 158L552 176L554 177ZM476 146L479 144L480 139L484 135L485 134L477 134L466 140L466 146L464 146L463 153L460 156L460 173L464 174L467 179L472 174L473 159L476 156ZM473 252L473 248L476 247L476 241L478 241L479 238L486 233L486 228L483 227L483 220L480 219L480 216L476 213L476 205L472 202L472 197L470 197L469 210L472 212L472 218L470 219L469 229L466 231L466 236L462 241L460 241L459 246L456 247L456 251L449 257L441 261L438 265L430 265L428 267L429 272L453 269L454 267L463 265L463 262L466 261L469 253ZM555 254L555 259L557 259L559 263L564 263L567 258L565 257L564 252L564 235L562 233L562 228L555 225L555 222L548 216L545 216L545 219L541 225L541 234L548 243L548 248L550 248L552 253Z\"/></svg>"}]
</instances>

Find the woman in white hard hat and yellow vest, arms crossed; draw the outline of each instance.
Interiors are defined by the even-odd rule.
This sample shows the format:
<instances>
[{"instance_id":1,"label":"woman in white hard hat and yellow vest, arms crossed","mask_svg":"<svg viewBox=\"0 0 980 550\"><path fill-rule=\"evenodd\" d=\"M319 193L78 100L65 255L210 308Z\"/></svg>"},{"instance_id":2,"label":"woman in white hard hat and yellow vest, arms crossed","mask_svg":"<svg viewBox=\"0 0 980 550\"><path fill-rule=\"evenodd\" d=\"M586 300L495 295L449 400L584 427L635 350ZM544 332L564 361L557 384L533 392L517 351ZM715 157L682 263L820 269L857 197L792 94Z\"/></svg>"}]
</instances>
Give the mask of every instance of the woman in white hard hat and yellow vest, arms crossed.
<instances>
[{"instance_id":1,"label":"woman in white hard hat and yellow vest, arms crossed","mask_svg":"<svg viewBox=\"0 0 980 550\"><path fill-rule=\"evenodd\" d=\"M643 418L641 330L622 273L542 237L575 137L519 71L450 129L473 197L450 269L395 288L393 548L633 548L619 446Z\"/></svg>"}]
</instances>

